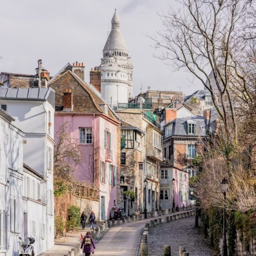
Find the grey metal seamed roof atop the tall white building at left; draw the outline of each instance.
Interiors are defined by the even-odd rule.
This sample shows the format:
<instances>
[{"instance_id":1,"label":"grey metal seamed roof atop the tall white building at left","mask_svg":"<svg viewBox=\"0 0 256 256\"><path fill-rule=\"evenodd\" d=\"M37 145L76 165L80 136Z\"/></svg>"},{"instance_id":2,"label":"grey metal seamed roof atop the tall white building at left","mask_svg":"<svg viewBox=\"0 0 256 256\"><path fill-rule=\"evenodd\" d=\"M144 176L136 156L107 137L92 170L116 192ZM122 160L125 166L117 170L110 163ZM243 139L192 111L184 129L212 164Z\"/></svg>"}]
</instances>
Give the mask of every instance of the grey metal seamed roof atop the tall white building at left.
<instances>
[{"instance_id":1,"label":"grey metal seamed roof atop the tall white building at left","mask_svg":"<svg viewBox=\"0 0 256 256\"><path fill-rule=\"evenodd\" d=\"M0 88L0 99L48 100L55 107L55 93L51 88Z\"/></svg>"}]
</instances>

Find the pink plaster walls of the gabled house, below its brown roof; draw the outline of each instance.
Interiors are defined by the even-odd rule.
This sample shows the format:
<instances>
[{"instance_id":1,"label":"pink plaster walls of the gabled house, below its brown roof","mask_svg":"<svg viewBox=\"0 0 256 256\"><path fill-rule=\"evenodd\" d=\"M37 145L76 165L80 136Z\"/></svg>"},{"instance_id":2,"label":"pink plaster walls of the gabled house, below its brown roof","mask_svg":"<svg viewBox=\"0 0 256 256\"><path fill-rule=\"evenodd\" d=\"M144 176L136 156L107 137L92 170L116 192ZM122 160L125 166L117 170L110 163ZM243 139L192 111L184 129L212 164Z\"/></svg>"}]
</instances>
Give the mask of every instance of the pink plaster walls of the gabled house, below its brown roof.
<instances>
[{"instance_id":1,"label":"pink plaster walls of the gabled house, below its brown roof","mask_svg":"<svg viewBox=\"0 0 256 256\"><path fill-rule=\"evenodd\" d=\"M110 211L114 206L114 201L117 200L117 188L116 186L113 187L109 184L109 172L106 172L106 183L100 183L99 165L100 161L105 162L106 159L106 150L104 148L104 130L106 129L111 132L111 164L114 166L117 164L117 125L105 118L102 118L101 116L69 115L67 113L65 116L55 115L55 134L59 130L61 124L65 122L69 122L70 133L77 142L79 142L79 127L92 127L93 144L78 144L80 152L82 153L82 163L77 166L74 177L79 181L94 183L96 186L98 186L100 190L100 200L101 196L105 197L105 219L109 219ZM95 177L96 180L94 180ZM99 212L101 215L101 209Z\"/></svg>"}]
</instances>

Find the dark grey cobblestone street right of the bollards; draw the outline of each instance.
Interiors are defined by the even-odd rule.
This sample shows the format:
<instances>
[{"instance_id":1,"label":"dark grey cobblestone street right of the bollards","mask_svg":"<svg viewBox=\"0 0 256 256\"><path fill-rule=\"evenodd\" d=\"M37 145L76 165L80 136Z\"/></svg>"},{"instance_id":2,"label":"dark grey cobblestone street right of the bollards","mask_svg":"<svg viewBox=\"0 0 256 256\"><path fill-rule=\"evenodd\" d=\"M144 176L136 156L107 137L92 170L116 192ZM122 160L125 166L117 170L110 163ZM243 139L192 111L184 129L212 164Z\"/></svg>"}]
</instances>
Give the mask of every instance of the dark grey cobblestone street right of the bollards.
<instances>
[{"instance_id":1,"label":"dark grey cobblestone street right of the bollards","mask_svg":"<svg viewBox=\"0 0 256 256\"><path fill-rule=\"evenodd\" d=\"M148 254L163 255L164 245L170 245L172 256L179 255L179 245L189 256L212 256L206 240L195 227L195 216L151 227L148 236Z\"/></svg>"}]
</instances>

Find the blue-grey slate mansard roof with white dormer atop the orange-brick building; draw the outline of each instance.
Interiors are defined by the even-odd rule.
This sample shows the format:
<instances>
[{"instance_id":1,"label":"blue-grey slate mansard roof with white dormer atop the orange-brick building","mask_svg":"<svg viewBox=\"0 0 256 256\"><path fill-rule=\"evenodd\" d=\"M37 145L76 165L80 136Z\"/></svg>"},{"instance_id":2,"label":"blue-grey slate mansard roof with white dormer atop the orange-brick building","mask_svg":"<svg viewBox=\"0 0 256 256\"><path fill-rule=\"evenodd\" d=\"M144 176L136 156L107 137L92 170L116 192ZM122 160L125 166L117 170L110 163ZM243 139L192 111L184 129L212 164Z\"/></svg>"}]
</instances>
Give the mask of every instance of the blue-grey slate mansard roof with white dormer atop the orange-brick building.
<instances>
[{"instance_id":1,"label":"blue-grey slate mansard roof with white dormer atop the orange-brick building","mask_svg":"<svg viewBox=\"0 0 256 256\"><path fill-rule=\"evenodd\" d=\"M187 121L191 121L196 123L196 134L189 135L187 134ZM206 136L206 120L202 116L196 117L183 117L183 118L176 118L175 120L168 122L166 126L173 123L173 132L172 136ZM204 126L204 129L201 130L201 126Z\"/></svg>"}]
</instances>

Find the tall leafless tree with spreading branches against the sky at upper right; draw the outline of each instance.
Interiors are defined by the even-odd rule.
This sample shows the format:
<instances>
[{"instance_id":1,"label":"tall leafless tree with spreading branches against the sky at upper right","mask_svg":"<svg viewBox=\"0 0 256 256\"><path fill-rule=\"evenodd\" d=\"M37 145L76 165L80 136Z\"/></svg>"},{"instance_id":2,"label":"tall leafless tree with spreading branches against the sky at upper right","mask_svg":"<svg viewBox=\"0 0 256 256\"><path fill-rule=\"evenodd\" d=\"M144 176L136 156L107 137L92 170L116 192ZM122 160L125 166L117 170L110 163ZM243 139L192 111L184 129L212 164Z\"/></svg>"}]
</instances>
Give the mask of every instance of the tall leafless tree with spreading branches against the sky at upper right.
<instances>
[{"instance_id":1,"label":"tall leafless tree with spreading branches against the sky at upper right","mask_svg":"<svg viewBox=\"0 0 256 256\"><path fill-rule=\"evenodd\" d=\"M159 58L175 70L185 68L203 83L223 122L226 143L236 145L234 98L239 95L244 108L254 99L254 73L247 72L248 61L251 66L255 63L254 1L178 2L180 9L160 14L163 30L151 37L155 47L164 50Z\"/></svg>"}]
</instances>

